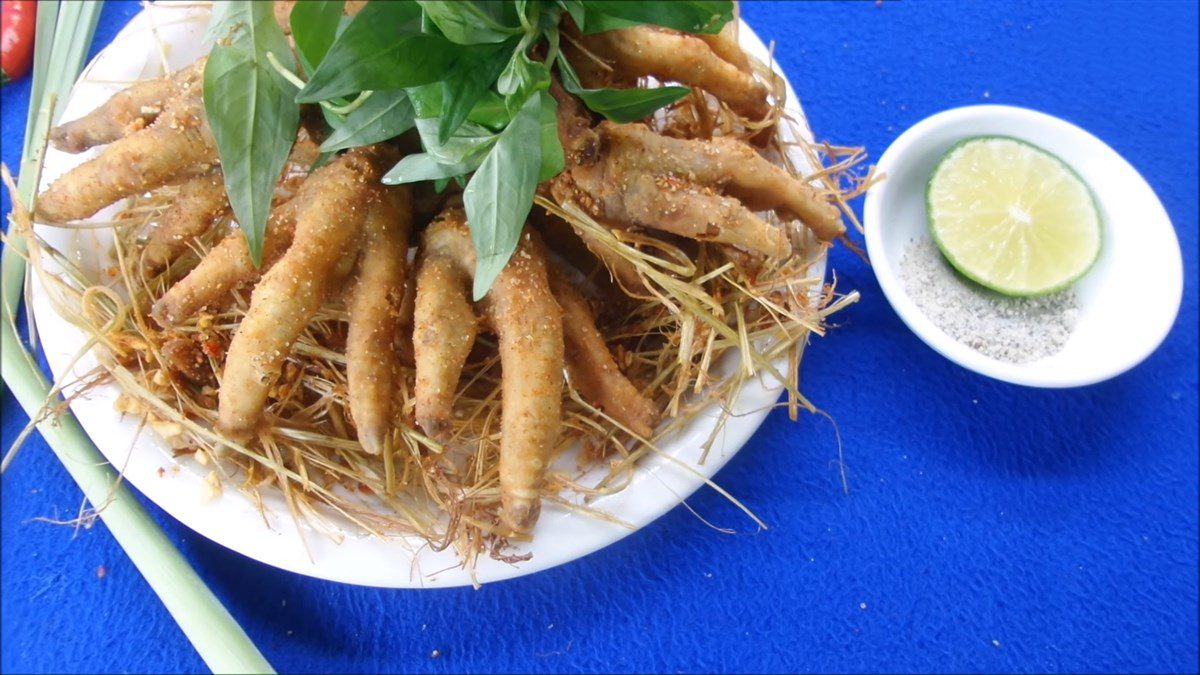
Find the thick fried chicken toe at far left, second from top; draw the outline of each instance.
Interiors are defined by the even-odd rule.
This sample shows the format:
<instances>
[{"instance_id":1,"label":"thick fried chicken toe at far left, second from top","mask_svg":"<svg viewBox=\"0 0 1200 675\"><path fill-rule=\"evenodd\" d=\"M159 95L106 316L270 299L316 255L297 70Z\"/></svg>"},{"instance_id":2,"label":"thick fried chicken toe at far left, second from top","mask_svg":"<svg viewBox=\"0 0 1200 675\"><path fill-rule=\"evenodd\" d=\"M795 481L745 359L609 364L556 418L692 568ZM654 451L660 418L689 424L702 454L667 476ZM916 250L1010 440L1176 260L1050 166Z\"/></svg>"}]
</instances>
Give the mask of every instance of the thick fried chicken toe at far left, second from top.
<instances>
[{"instance_id":1,"label":"thick fried chicken toe at far left, second from top","mask_svg":"<svg viewBox=\"0 0 1200 675\"><path fill-rule=\"evenodd\" d=\"M211 171L217 150L204 115L200 73L198 64L176 84L154 124L114 141L55 180L37 199L37 217L88 217L118 199Z\"/></svg>"}]
</instances>

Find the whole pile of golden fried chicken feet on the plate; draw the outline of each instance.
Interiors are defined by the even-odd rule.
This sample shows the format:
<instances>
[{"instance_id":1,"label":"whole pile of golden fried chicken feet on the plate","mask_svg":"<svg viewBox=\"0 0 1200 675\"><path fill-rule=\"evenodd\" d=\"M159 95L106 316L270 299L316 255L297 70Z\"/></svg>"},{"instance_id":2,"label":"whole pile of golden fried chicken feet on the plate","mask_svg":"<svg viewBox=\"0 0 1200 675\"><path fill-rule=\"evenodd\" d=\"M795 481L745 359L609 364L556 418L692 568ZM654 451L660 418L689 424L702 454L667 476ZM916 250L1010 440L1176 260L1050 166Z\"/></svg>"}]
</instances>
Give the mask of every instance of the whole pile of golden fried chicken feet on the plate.
<instances>
[{"instance_id":1,"label":"whole pile of golden fried chicken feet on the plate","mask_svg":"<svg viewBox=\"0 0 1200 675\"><path fill-rule=\"evenodd\" d=\"M575 31L570 42L574 60L590 64L580 67L588 86L654 76L701 88L748 119L762 120L770 109L767 89L730 30L692 36L636 26ZM204 117L203 68L202 60L136 84L56 129L52 139L64 151L108 147L50 185L38 198L37 217L84 219L126 197L175 185L178 197L142 252L143 270L172 274L175 261L229 214ZM745 142L672 138L646 124L596 124L557 83L551 92L566 169L542 193L583 209L605 227L668 233L763 258L792 253L780 223L798 221L822 240L844 233L838 209L823 193ZM473 306L475 251L464 211L451 197L414 232L409 187L379 180L402 154L396 142L356 148L306 175L286 178L268 220L262 265L253 264L234 229L154 301L150 316L167 331L252 288L226 353L215 423L232 443L247 444L270 428L271 388L294 344L326 301L341 300L348 408L358 441L371 454L390 452L401 425L455 442L460 378L479 330L494 333L502 368L499 519L512 532L528 532L558 446L564 382L636 437L653 436L660 411L622 372L589 301L571 281L575 270L550 255L535 227L526 226L516 253ZM294 159L305 165L313 157L298 143ZM767 211L774 217L764 217ZM626 289L637 285L628 259L576 232ZM418 244L413 282L410 241ZM412 317L404 318L409 287ZM410 412L395 394L408 345Z\"/></svg>"}]
</instances>

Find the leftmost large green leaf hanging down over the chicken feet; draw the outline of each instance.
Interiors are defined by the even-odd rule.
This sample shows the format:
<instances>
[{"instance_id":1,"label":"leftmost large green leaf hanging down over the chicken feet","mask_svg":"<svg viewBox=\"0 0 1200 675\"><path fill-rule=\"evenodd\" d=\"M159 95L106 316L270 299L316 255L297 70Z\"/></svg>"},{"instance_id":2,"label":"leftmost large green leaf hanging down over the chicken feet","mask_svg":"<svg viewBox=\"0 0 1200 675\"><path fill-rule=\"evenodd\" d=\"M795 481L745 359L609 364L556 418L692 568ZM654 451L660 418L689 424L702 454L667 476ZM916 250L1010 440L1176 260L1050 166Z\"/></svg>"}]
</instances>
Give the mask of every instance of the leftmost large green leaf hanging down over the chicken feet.
<instances>
[{"instance_id":1,"label":"leftmost large green leaf hanging down over the chicken feet","mask_svg":"<svg viewBox=\"0 0 1200 675\"><path fill-rule=\"evenodd\" d=\"M292 49L270 4L220 2L210 30L223 38L204 67L204 112L216 141L229 204L254 264L263 259L263 234L275 184L300 126L295 88L271 67L272 53L295 68ZM217 28L217 22L226 23Z\"/></svg>"}]
</instances>

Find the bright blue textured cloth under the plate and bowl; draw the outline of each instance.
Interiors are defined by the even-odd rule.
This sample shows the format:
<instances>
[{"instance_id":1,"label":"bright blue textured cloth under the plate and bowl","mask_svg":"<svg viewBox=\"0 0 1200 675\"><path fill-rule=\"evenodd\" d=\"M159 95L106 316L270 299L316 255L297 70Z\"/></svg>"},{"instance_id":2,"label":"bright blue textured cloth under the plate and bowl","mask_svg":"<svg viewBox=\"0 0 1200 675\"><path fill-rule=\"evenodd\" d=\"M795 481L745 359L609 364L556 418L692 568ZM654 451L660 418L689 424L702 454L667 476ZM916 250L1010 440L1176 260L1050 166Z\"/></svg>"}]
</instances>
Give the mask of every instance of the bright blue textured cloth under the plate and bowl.
<instances>
[{"instance_id":1,"label":"bright blue textured cloth under the plate and bowl","mask_svg":"<svg viewBox=\"0 0 1200 675\"><path fill-rule=\"evenodd\" d=\"M106 6L97 46L137 8ZM818 137L875 157L922 118L983 102L1110 143L1183 245L1166 342L1103 384L1001 384L919 342L842 250L841 287L863 300L812 345L803 386L836 420L851 491L829 422L772 414L719 474L768 531L702 491L691 506L742 534L677 508L532 578L397 592L264 567L151 506L281 671L1195 671L1196 4L751 2L744 14L778 41ZM26 79L0 95L10 167L28 91ZM25 419L7 390L2 410L7 446ZM32 520L79 501L40 440L4 476L0 669L202 670L102 525Z\"/></svg>"}]
</instances>

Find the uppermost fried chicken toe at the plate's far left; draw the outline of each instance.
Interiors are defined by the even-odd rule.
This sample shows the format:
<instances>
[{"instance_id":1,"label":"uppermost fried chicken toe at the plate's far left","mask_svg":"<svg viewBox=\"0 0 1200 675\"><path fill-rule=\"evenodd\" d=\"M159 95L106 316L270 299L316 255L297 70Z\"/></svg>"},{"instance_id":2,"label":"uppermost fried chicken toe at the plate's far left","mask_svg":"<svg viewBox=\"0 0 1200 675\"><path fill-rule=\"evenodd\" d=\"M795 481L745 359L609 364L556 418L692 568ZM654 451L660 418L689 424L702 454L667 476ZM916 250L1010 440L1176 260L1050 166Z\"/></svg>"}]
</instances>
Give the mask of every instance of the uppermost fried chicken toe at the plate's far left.
<instances>
[{"instance_id":1,"label":"uppermost fried chicken toe at the plate's far left","mask_svg":"<svg viewBox=\"0 0 1200 675\"><path fill-rule=\"evenodd\" d=\"M203 76L204 62L200 59L173 76L138 82L119 91L86 115L55 127L50 143L64 153L76 154L140 131L158 117L172 96Z\"/></svg>"}]
</instances>

